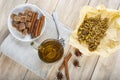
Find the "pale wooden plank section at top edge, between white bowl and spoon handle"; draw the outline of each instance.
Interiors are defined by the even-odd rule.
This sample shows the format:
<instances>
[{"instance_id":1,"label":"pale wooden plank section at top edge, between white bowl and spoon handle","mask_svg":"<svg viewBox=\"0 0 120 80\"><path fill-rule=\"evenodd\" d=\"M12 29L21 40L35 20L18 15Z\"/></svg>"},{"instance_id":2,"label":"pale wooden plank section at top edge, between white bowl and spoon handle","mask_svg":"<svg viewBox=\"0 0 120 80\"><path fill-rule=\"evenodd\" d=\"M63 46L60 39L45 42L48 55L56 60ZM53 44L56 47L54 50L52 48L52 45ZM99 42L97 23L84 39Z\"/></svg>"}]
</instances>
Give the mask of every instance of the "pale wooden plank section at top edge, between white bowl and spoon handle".
<instances>
[{"instance_id":1,"label":"pale wooden plank section at top edge, between white bowl and spoon handle","mask_svg":"<svg viewBox=\"0 0 120 80\"><path fill-rule=\"evenodd\" d=\"M41 9L46 10L52 14L59 0L28 0L27 3L32 3L39 6Z\"/></svg>"}]
</instances>

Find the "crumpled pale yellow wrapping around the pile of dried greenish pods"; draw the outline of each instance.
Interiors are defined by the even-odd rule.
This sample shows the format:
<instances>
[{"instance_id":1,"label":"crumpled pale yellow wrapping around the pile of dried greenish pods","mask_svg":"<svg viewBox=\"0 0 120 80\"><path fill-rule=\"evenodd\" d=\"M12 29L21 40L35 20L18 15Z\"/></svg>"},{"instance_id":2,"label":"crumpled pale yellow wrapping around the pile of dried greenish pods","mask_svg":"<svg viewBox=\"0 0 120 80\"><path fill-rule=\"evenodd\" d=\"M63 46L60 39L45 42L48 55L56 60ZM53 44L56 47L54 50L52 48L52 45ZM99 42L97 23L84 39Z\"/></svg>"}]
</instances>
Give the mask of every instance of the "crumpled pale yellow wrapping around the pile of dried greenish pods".
<instances>
[{"instance_id":1,"label":"crumpled pale yellow wrapping around the pile of dried greenish pods","mask_svg":"<svg viewBox=\"0 0 120 80\"><path fill-rule=\"evenodd\" d=\"M77 31L79 26L84 21L85 16L94 17L98 14L101 18L108 18L109 28L106 31L106 36L101 40L100 45L93 52L88 50L86 44L80 44L78 41ZM84 55L98 54L100 56L109 56L120 48L120 11L113 9L106 9L104 6L98 6L93 8L90 6L84 6L80 11L79 22L76 29L70 36L70 45L78 48Z\"/></svg>"}]
</instances>

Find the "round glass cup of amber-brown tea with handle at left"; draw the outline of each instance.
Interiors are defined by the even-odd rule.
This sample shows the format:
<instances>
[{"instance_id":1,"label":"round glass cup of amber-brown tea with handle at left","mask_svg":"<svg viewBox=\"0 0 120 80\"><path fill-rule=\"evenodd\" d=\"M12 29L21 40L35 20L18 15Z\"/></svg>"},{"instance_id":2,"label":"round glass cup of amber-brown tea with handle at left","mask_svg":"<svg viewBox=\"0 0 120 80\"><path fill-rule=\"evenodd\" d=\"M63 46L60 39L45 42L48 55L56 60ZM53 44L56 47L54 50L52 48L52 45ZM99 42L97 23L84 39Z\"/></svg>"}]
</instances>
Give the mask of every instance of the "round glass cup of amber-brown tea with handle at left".
<instances>
[{"instance_id":1,"label":"round glass cup of amber-brown tea with handle at left","mask_svg":"<svg viewBox=\"0 0 120 80\"><path fill-rule=\"evenodd\" d=\"M33 44L35 48L35 44ZM53 63L60 60L64 53L61 40L46 39L37 48L39 58L46 63Z\"/></svg>"}]
</instances>

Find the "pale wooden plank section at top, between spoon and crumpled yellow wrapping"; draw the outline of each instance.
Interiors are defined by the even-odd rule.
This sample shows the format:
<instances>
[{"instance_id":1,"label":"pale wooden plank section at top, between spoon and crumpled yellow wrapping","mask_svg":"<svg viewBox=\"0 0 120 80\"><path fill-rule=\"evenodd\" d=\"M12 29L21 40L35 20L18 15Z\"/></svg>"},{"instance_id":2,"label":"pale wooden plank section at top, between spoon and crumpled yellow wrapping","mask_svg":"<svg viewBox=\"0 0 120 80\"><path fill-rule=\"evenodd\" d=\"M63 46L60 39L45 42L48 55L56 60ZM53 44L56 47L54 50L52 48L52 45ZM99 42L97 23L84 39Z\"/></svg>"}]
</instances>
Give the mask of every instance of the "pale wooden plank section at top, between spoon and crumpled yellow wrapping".
<instances>
[{"instance_id":1,"label":"pale wooden plank section at top, between spoon and crumpled yellow wrapping","mask_svg":"<svg viewBox=\"0 0 120 80\"><path fill-rule=\"evenodd\" d=\"M55 11L62 23L74 29L79 19L81 7L88 3L89 0L60 0Z\"/></svg>"}]
</instances>

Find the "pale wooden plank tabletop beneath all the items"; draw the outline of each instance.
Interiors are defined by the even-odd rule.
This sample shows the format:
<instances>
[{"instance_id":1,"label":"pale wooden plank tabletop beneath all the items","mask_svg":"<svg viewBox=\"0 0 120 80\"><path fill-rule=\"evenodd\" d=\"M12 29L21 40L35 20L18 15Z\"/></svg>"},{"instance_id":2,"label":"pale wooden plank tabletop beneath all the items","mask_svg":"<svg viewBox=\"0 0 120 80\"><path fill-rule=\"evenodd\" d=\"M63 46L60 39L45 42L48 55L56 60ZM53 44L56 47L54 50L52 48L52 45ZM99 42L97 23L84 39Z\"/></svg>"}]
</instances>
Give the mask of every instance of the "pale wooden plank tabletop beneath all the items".
<instances>
[{"instance_id":1,"label":"pale wooden plank tabletop beneath all the items","mask_svg":"<svg viewBox=\"0 0 120 80\"><path fill-rule=\"evenodd\" d=\"M24 3L25 0L0 0L0 44L9 34L7 30L7 16L9 11L20 3ZM87 5L89 0L28 0L28 3L33 3L39 6L41 9L48 11L50 14L55 11L58 13L59 20L62 23L70 26L72 29L75 29L75 26L78 22L79 12L82 6ZM96 7L99 4L104 4L108 8L117 9L120 4L119 0L90 0L89 5ZM3 7L4 6L4 7ZM57 7L56 7L57 6ZM8 9L8 10L6 10ZM3 24L4 22L4 24ZM66 53L72 52L73 48L68 45ZM71 63L69 63L70 67L70 79L71 80L120 80L119 78L119 70L120 70L120 59L119 59L119 51L117 51L114 55L111 55L109 58L102 58L96 55L94 56L82 56L77 58L80 61L80 68L74 68L72 65L72 61L75 56L71 59ZM98 61L98 64L97 64ZM97 64L97 66L96 66ZM0 80L41 80L34 73L28 71L26 73L26 68L19 67L19 64L14 63L9 58L0 58ZM57 65L59 66L59 65ZM57 66L51 69L51 75L48 75L49 80L51 80L51 76L54 75L57 71ZM14 69L15 68L15 71ZM19 68L21 72L19 71ZM10 69L10 70L9 70ZM94 70L95 69L95 70ZM13 71L12 71L13 70ZM22 73L25 73L22 75ZM12 74L10 74L12 72ZM63 71L64 72L64 71ZM4 73L4 74L3 74ZM17 74L16 74L17 73ZM72 74L79 76L73 76ZM2 74L2 75L1 75ZM13 76L14 75L14 76ZM7 78L6 78L7 76ZM12 76L12 78L11 78Z\"/></svg>"}]
</instances>

